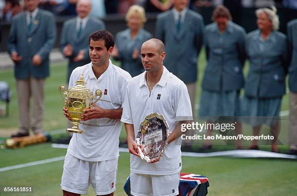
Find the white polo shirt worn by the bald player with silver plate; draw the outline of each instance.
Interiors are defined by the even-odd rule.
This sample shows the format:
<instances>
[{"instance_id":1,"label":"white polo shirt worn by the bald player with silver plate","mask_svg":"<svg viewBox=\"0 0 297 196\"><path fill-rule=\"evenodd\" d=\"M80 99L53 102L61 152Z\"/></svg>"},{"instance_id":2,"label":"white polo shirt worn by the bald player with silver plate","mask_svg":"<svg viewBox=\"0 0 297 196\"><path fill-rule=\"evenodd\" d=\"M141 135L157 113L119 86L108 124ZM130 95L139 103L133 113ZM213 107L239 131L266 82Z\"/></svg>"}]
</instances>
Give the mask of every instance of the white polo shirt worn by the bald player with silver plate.
<instances>
[{"instance_id":1,"label":"white polo shirt worn by the bald player with silver plate","mask_svg":"<svg viewBox=\"0 0 297 196\"><path fill-rule=\"evenodd\" d=\"M177 121L191 121L192 108L186 85L164 67L160 81L149 93L146 72L135 76L127 86L121 121L134 125L134 136L140 123L151 113L163 115L169 126L169 134ZM134 138L135 139L135 138ZM171 175L181 171L181 138L171 142L160 161L148 164L130 155L131 172L150 175Z\"/></svg>"}]
</instances>

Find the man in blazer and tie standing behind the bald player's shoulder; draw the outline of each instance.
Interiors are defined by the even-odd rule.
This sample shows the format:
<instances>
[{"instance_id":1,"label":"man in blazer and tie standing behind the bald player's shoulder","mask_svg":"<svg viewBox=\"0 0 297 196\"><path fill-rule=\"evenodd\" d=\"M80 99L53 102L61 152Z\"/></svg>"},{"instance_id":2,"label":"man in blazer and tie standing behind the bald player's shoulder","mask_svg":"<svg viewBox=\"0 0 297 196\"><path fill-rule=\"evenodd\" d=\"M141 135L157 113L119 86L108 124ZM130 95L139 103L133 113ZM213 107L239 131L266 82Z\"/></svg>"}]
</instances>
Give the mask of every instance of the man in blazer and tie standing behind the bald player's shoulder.
<instances>
[{"instance_id":1,"label":"man in blazer and tie standing behind the bald player's shoulder","mask_svg":"<svg viewBox=\"0 0 297 196\"><path fill-rule=\"evenodd\" d=\"M165 43L166 68L186 84L194 114L203 18L187 9L187 3L188 0L173 0L173 9L157 16L155 36Z\"/></svg>"}]
</instances>

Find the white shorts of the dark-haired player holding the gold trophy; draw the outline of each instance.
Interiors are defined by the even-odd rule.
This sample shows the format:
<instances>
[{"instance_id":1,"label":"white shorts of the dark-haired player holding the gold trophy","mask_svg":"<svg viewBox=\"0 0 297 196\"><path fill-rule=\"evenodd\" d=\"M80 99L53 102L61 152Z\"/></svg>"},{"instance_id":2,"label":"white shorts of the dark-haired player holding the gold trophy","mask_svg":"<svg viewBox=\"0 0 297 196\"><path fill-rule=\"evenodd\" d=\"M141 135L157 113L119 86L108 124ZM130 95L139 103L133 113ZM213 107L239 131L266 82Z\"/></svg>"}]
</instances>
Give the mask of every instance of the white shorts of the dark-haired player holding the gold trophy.
<instances>
[{"instance_id":1,"label":"white shorts of the dark-haired player holding the gold trophy","mask_svg":"<svg viewBox=\"0 0 297 196\"><path fill-rule=\"evenodd\" d=\"M97 195L107 195L115 191L117 158L108 161L82 161L66 153L61 187L63 190L86 194L92 184Z\"/></svg>"}]
</instances>

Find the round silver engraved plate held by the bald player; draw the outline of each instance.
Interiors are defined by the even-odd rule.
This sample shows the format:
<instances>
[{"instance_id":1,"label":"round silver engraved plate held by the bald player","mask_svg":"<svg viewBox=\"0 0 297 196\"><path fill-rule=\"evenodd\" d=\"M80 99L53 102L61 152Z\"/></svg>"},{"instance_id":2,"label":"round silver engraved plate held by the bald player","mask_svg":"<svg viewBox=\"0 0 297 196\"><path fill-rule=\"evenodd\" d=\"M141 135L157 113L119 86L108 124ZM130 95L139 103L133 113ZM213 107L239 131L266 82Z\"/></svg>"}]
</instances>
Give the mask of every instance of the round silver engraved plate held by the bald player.
<instances>
[{"instance_id":1,"label":"round silver engraved plate held by the bald player","mask_svg":"<svg viewBox=\"0 0 297 196\"><path fill-rule=\"evenodd\" d=\"M136 136L140 157L147 162L158 159L167 145L168 124L165 118L158 113L146 116L139 125ZM143 151L139 146L143 146Z\"/></svg>"}]
</instances>

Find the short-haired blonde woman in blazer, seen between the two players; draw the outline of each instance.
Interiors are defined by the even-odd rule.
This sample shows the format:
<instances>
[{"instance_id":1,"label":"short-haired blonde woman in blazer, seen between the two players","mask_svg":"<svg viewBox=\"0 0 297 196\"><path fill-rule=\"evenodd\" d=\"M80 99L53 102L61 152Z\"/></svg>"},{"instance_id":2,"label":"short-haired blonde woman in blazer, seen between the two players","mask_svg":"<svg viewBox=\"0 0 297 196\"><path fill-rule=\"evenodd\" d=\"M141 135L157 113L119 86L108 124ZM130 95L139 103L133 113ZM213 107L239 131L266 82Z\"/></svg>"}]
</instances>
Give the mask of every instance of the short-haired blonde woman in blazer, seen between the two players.
<instances>
[{"instance_id":1,"label":"short-haired blonde woman in blazer, seen between the two players","mask_svg":"<svg viewBox=\"0 0 297 196\"><path fill-rule=\"evenodd\" d=\"M132 5L126 15L128 29L120 31L115 36L112 56L121 61L121 68L134 77L144 72L141 62L141 45L152 38L152 35L143 29L146 22L145 10L139 5Z\"/></svg>"}]
</instances>

